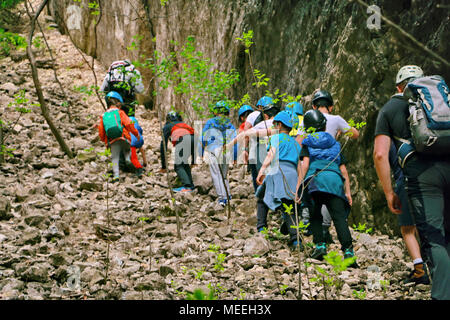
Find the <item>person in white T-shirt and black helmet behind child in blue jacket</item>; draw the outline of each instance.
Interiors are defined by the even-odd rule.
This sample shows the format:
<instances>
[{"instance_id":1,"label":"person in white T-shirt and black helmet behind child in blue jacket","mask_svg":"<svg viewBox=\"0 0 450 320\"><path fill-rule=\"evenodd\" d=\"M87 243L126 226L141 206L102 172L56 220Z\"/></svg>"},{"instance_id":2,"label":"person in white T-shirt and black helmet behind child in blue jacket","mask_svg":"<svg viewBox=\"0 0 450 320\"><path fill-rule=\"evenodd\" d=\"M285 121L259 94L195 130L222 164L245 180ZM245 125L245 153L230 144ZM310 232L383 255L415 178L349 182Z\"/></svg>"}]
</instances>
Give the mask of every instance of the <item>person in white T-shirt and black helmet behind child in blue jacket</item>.
<instances>
[{"instance_id":1,"label":"person in white T-shirt and black helmet behind child in blue jacket","mask_svg":"<svg viewBox=\"0 0 450 320\"><path fill-rule=\"evenodd\" d=\"M312 106L314 110L319 110L327 119L327 125L325 128L325 132L328 132L333 138L338 139L341 134L346 134L352 139L357 139L359 137L359 131L356 128L350 126L347 121L344 120L339 115L333 115L331 112L333 111L334 102L331 94L326 90L318 90L314 93L312 99ZM300 125L302 127L302 124ZM307 129L307 128L305 128ZM299 134L297 136L297 141L301 144L304 139L305 134L302 130L299 130ZM308 222L308 211L304 211L305 216L303 217L304 222ZM326 242L332 243L333 239L330 234L331 227L331 216L325 206L322 207L322 215L323 215L323 232L325 234Z\"/></svg>"}]
</instances>

